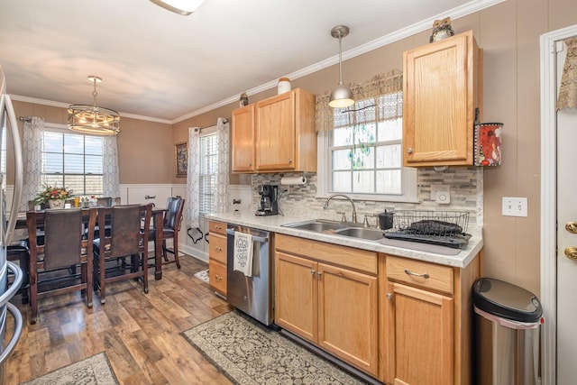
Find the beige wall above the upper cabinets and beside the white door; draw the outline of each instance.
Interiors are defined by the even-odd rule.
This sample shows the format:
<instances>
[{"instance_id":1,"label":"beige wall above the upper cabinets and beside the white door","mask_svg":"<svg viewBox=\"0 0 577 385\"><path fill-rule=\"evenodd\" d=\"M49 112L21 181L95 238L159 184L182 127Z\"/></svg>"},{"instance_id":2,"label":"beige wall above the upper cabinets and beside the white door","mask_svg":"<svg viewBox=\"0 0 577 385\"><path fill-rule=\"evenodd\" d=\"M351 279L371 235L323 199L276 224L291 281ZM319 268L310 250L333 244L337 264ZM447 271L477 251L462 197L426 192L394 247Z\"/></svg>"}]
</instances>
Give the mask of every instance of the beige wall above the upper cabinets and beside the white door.
<instances>
[{"instance_id":1,"label":"beige wall above the upper cabinets and beside the white door","mask_svg":"<svg viewBox=\"0 0 577 385\"><path fill-rule=\"evenodd\" d=\"M537 295L540 280L539 36L577 23L575 14L577 2L574 0L508 0L452 23L455 32L472 29L484 51L483 121L505 124L503 165L484 171L484 274L508 280ZM429 35L428 31L421 32L346 60L344 81L363 82L389 69L402 69L402 52L426 44ZM347 49L346 40L343 49ZM292 80L292 87L322 93L334 87L337 78L337 67L333 66ZM271 89L249 98L254 102L274 92ZM218 116L230 117L236 105L175 124L175 138L185 137L189 126L211 125ZM527 197L528 217L502 216L502 197Z\"/></svg>"}]
</instances>

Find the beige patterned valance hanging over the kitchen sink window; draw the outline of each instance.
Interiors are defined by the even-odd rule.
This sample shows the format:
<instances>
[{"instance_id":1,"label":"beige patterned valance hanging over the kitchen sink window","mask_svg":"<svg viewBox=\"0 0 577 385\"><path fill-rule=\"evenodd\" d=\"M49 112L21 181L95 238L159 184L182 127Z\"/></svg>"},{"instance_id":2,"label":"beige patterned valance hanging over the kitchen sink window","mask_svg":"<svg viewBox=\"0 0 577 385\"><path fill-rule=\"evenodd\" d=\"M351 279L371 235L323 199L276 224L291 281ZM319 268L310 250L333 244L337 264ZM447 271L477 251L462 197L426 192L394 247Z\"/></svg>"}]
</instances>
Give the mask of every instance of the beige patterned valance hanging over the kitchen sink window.
<instances>
[{"instance_id":1,"label":"beige patterned valance hanging over the kitchen sink window","mask_svg":"<svg viewBox=\"0 0 577 385\"><path fill-rule=\"evenodd\" d=\"M403 115L402 100L398 94L403 90L403 73L398 69L376 75L363 84L348 85L353 91L356 103L346 110L371 108L365 101L379 98L378 109L380 119L397 119ZM334 109L328 105L330 92L316 95L316 131L331 131L335 127L350 124L350 114L343 114L343 121L334 121ZM353 114L354 115L354 114ZM358 114L357 114L358 115Z\"/></svg>"}]
</instances>

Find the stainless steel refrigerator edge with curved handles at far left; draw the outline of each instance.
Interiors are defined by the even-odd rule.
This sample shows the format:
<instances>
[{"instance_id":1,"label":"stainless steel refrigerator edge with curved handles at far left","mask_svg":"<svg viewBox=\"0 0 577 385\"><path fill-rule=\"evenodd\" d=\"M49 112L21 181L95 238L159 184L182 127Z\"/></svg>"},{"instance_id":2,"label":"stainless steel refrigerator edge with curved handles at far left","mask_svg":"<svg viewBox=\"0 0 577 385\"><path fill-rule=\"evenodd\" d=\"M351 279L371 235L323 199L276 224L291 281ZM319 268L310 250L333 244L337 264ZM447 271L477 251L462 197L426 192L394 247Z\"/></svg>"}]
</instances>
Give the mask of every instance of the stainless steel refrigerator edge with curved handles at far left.
<instances>
[{"instance_id":1,"label":"stainless steel refrigerator edge with curved handles at far left","mask_svg":"<svg viewBox=\"0 0 577 385\"><path fill-rule=\"evenodd\" d=\"M10 261L6 261L6 250L12 240L14 226L16 225L16 216L18 215L18 206L22 196L23 186L23 154L20 133L18 133L18 124L14 114L14 106L10 96L6 93L6 81L4 69L0 64L0 147L2 156L0 156L0 384L4 383L4 363L14 351L14 347L22 335L23 318L20 311L8 301L14 297L14 294L23 280L23 273L20 268ZM12 134L14 143L14 195L10 210L6 208L6 138L7 131ZM10 215L8 216L8 212ZM8 217L7 217L8 216ZM14 274L12 285L8 288L8 270ZM6 317L10 312L14 316L14 332L10 341L4 346L6 333Z\"/></svg>"}]
</instances>

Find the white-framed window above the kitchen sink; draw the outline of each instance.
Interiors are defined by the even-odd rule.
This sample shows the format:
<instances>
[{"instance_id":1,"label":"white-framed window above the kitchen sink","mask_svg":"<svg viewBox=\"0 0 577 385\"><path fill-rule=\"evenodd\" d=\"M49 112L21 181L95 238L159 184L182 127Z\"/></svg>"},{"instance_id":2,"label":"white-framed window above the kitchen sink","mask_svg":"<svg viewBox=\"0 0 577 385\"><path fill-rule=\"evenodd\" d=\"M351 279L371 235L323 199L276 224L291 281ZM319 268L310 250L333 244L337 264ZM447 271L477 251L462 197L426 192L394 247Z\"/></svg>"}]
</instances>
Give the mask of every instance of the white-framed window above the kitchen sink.
<instances>
[{"instance_id":1,"label":"white-framed window above the kitchen sink","mask_svg":"<svg viewBox=\"0 0 577 385\"><path fill-rule=\"evenodd\" d=\"M417 171L402 167L402 97L394 92L334 109L334 129L319 133L321 195L417 200Z\"/></svg>"}]
</instances>

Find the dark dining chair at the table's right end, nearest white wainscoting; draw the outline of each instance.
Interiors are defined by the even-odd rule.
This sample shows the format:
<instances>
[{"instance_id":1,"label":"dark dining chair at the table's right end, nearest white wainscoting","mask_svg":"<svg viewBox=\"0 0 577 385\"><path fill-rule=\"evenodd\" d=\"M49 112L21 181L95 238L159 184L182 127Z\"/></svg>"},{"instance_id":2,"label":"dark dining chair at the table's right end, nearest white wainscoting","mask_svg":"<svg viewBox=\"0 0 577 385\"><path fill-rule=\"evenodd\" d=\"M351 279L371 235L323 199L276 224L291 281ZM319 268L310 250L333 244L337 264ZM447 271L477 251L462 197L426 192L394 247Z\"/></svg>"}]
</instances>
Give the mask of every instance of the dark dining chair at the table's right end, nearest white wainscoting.
<instances>
[{"instance_id":1,"label":"dark dining chair at the table's right end, nearest white wainscoting","mask_svg":"<svg viewBox=\"0 0 577 385\"><path fill-rule=\"evenodd\" d=\"M184 209L184 198L169 197L166 200L166 211L162 222L162 264L176 263L180 269L179 261L179 230L182 222L182 210ZM156 228L152 227L149 239L154 240L154 250L156 250ZM172 239L172 249L166 247L166 240ZM174 255L174 260L169 261L168 253Z\"/></svg>"}]
</instances>

